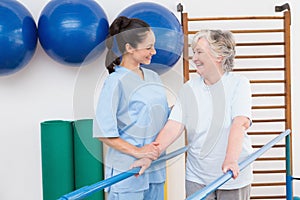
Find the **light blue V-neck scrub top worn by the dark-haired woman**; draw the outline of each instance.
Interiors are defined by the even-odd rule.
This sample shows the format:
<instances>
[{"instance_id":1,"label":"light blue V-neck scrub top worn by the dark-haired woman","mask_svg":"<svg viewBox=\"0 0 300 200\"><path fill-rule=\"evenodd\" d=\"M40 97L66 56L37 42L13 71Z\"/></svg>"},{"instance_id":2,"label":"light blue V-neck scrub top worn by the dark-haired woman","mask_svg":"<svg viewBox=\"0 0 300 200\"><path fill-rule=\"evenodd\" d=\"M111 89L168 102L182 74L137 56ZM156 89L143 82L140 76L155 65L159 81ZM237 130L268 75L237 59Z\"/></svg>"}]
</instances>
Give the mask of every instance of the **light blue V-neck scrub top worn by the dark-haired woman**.
<instances>
[{"instance_id":1,"label":"light blue V-neck scrub top worn by the dark-haired woman","mask_svg":"<svg viewBox=\"0 0 300 200\"><path fill-rule=\"evenodd\" d=\"M131 70L117 66L105 80L94 120L94 137L120 137L137 147L155 140L167 121L169 108L160 77L151 70L142 70L144 80ZM105 177L109 178L127 171L136 159L109 148L105 160ZM114 184L110 189L142 191L148 189L149 183L165 181L165 164L149 171Z\"/></svg>"}]
</instances>

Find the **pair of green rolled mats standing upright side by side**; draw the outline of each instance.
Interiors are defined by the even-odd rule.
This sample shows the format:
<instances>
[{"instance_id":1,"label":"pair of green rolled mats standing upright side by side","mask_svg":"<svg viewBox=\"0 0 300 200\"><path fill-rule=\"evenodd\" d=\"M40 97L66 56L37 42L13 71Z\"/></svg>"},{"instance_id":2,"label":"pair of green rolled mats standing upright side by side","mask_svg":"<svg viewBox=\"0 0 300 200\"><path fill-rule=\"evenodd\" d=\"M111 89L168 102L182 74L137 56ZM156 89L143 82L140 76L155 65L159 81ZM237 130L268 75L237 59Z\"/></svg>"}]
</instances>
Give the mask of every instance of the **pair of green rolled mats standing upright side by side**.
<instances>
[{"instance_id":1,"label":"pair of green rolled mats standing upright side by side","mask_svg":"<svg viewBox=\"0 0 300 200\"><path fill-rule=\"evenodd\" d=\"M41 124L43 200L104 179L102 143L93 138L92 119L51 120ZM103 191L87 200L103 200Z\"/></svg>"}]
</instances>

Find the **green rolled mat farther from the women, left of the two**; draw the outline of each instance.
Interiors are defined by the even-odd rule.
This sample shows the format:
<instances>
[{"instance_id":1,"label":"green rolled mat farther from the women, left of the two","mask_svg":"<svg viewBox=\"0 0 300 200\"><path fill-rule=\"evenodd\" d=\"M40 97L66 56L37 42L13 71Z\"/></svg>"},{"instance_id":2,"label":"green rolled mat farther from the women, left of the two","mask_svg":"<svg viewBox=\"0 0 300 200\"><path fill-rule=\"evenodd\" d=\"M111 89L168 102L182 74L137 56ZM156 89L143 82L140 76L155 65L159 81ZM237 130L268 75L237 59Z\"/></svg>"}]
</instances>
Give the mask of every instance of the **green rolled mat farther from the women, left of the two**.
<instances>
[{"instance_id":1,"label":"green rolled mat farther from the women, left of the two","mask_svg":"<svg viewBox=\"0 0 300 200\"><path fill-rule=\"evenodd\" d=\"M41 123L43 200L54 200L75 189L72 122Z\"/></svg>"}]
</instances>

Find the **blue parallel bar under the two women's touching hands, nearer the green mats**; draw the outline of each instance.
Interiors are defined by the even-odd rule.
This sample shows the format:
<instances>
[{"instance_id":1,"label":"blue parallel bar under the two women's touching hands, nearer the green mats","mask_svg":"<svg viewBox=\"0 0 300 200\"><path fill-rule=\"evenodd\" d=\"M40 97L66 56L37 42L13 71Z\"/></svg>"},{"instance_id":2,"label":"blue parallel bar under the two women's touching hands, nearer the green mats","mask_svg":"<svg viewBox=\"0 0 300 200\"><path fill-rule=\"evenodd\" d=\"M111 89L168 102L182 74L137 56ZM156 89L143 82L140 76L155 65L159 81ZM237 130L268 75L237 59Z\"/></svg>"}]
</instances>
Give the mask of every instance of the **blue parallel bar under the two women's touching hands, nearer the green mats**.
<instances>
[{"instance_id":1,"label":"blue parallel bar under the two women's touching hands, nearer the green mats","mask_svg":"<svg viewBox=\"0 0 300 200\"><path fill-rule=\"evenodd\" d=\"M156 164L159 164L161 162L164 162L166 160L169 160L171 158L174 158L178 156L179 154L182 154L188 150L188 146L182 147L176 151L173 151L172 153L169 153L167 155L164 155L160 157L159 159L152 162L151 166L154 166ZM86 198L93 194L94 192L103 190L106 187L109 187L117 182L120 182L126 178L129 178L135 174L137 174L140 171L140 167L130 169L126 172L122 172L116 176L110 177L108 179L105 179L103 181L97 182L90 186L84 186L78 190L75 190L73 192L70 192L69 194L65 194L62 197L60 197L58 200L79 200Z\"/></svg>"}]
</instances>

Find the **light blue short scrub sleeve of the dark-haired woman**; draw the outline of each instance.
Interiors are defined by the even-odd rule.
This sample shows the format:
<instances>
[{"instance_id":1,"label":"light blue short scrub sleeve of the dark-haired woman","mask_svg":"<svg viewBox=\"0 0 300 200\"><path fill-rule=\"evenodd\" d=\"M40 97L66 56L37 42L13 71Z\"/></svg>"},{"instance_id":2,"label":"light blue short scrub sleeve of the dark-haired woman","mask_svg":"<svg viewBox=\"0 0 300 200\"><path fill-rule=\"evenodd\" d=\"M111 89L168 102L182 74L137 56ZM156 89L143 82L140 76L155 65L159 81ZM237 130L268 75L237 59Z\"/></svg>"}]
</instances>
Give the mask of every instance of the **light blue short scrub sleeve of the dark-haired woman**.
<instances>
[{"instance_id":1,"label":"light blue short scrub sleeve of the dark-haired woman","mask_svg":"<svg viewBox=\"0 0 300 200\"><path fill-rule=\"evenodd\" d=\"M101 90L93 124L94 137L119 137L117 112L121 98L119 81L108 77Z\"/></svg>"}]
</instances>

